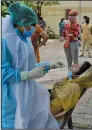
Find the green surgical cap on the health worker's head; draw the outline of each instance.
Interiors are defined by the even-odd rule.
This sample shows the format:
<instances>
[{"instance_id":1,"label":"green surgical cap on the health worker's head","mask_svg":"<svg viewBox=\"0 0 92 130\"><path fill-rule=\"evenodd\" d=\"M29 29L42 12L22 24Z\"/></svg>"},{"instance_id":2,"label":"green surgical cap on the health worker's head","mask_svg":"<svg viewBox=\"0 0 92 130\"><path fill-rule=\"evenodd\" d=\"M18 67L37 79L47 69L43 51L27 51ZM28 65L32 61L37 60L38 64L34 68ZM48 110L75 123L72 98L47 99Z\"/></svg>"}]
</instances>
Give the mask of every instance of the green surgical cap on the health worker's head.
<instances>
[{"instance_id":1,"label":"green surgical cap on the health worker's head","mask_svg":"<svg viewBox=\"0 0 92 130\"><path fill-rule=\"evenodd\" d=\"M13 23L19 26L27 26L37 23L36 13L28 6L15 2L11 4L8 11L13 19Z\"/></svg>"}]
</instances>

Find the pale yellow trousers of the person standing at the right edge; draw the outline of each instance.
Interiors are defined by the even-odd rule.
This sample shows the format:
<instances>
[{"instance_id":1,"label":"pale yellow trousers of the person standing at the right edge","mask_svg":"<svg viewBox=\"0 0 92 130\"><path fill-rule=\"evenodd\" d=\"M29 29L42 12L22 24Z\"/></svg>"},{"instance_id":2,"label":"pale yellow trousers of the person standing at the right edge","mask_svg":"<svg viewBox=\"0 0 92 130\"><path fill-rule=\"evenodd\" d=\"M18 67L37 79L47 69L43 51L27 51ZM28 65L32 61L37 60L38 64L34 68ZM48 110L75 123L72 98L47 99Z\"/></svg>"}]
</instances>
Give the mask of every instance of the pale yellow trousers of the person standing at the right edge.
<instances>
[{"instance_id":1,"label":"pale yellow trousers of the person standing at the right edge","mask_svg":"<svg viewBox=\"0 0 92 130\"><path fill-rule=\"evenodd\" d=\"M82 40L82 55L84 55L85 48L87 48L88 55L90 55L90 44L91 44L91 40L89 40L89 39Z\"/></svg>"}]
</instances>

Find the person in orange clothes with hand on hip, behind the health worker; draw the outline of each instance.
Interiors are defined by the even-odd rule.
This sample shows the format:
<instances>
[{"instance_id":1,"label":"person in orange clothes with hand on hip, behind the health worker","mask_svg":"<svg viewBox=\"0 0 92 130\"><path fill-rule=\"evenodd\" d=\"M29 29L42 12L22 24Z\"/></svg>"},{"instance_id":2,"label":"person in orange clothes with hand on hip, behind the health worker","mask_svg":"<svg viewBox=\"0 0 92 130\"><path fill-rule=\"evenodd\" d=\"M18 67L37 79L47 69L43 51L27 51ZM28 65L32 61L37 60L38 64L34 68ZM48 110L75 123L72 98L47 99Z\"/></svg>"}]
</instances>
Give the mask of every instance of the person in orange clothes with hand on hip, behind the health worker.
<instances>
[{"instance_id":1,"label":"person in orange clothes with hand on hip, behind the health worker","mask_svg":"<svg viewBox=\"0 0 92 130\"><path fill-rule=\"evenodd\" d=\"M40 41L39 39L42 38L43 40ZM48 35L44 32L44 30L40 27L40 25L36 25L35 33L31 36L32 44L34 47L34 52L36 56L37 63L40 62L40 52L39 47L45 45L48 40Z\"/></svg>"}]
</instances>

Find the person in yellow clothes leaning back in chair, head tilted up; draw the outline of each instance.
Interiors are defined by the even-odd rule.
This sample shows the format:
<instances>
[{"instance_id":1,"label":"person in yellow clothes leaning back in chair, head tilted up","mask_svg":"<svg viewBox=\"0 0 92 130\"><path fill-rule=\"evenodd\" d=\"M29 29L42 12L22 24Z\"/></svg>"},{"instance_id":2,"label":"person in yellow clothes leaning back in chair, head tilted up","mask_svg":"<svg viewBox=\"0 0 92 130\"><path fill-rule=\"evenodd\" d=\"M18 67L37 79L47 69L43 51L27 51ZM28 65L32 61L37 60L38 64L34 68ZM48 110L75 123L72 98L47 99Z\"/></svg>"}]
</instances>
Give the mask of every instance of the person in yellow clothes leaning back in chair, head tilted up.
<instances>
[{"instance_id":1,"label":"person in yellow clothes leaning back in chair, head tilted up","mask_svg":"<svg viewBox=\"0 0 92 130\"><path fill-rule=\"evenodd\" d=\"M72 80L69 77L72 77ZM56 83L51 92L51 111L53 115L67 112L75 107L83 89L92 87L92 65L85 61L76 68L71 67L71 75Z\"/></svg>"}]
</instances>

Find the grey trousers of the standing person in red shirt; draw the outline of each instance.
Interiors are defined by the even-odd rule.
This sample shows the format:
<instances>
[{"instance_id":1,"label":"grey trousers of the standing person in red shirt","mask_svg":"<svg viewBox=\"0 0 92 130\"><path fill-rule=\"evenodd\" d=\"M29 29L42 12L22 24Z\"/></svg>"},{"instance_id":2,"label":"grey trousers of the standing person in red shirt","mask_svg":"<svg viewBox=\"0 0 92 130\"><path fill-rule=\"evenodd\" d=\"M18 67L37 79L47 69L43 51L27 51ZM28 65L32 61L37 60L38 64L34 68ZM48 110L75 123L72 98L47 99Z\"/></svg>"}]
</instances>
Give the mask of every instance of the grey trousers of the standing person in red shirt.
<instances>
[{"instance_id":1,"label":"grey trousers of the standing person in red shirt","mask_svg":"<svg viewBox=\"0 0 92 130\"><path fill-rule=\"evenodd\" d=\"M69 43L69 48L64 48L67 62L68 62L68 69L72 66L72 61L74 64L78 64L78 42L73 41Z\"/></svg>"}]
</instances>

